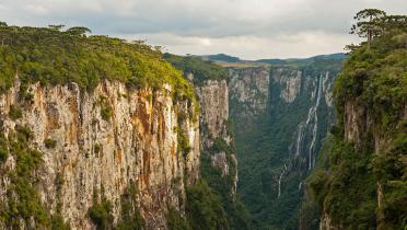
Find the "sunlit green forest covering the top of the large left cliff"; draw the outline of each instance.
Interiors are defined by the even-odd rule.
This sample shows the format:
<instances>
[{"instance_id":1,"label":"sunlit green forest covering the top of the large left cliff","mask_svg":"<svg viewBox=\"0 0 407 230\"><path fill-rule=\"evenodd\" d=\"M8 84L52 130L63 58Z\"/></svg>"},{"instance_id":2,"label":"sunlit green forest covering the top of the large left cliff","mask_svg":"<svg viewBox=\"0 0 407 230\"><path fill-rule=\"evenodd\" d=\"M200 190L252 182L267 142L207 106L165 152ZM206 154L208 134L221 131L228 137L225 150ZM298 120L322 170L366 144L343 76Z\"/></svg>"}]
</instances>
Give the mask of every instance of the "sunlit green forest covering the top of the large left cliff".
<instances>
[{"instance_id":1,"label":"sunlit green forest covering the top of the large left cliff","mask_svg":"<svg viewBox=\"0 0 407 230\"><path fill-rule=\"evenodd\" d=\"M162 54L142 42L128 43L107 36L88 36L89 28L63 26L0 26L0 93L12 87L15 74L27 83L67 84L93 90L103 79L131 89L174 87L175 99L195 101L188 82ZM195 103L195 102L194 102Z\"/></svg>"}]
</instances>

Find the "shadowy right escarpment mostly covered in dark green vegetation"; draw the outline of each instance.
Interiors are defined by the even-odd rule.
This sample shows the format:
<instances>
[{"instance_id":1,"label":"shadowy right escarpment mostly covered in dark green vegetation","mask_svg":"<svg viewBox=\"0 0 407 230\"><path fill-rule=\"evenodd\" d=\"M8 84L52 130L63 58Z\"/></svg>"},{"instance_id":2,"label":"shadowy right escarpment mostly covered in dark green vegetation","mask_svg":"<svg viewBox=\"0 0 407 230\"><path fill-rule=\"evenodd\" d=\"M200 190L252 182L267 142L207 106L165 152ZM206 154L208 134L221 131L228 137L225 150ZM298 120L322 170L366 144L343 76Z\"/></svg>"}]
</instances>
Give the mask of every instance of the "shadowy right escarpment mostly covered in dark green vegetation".
<instances>
[{"instance_id":1,"label":"shadowy right escarpment mostly covered in dark green vegetation","mask_svg":"<svg viewBox=\"0 0 407 230\"><path fill-rule=\"evenodd\" d=\"M405 228L407 35L402 27L385 27L358 47L337 79L338 122L307 180L301 229Z\"/></svg>"}]
</instances>

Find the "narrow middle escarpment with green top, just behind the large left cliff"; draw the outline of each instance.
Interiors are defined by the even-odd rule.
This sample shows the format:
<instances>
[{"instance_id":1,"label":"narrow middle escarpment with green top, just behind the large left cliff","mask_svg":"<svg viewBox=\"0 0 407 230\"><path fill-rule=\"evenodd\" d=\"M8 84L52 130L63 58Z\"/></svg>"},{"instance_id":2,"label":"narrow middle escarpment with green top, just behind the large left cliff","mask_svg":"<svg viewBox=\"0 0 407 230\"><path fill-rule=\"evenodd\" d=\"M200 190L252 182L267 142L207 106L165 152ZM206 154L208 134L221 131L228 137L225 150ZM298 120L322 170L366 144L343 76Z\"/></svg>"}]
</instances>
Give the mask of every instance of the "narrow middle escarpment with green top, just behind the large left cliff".
<instances>
[{"instance_id":1,"label":"narrow middle escarpment with green top, just behind the large left cliff","mask_svg":"<svg viewBox=\"0 0 407 230\"><path fill-rule=\"evenodd\" d=\"M228 71L198 57L166 54L185 72L200 105L201 175L219 197L231 229L248 229L248 214L236 194L237 160L230 120Z\"/></svg>"}]
</instances>

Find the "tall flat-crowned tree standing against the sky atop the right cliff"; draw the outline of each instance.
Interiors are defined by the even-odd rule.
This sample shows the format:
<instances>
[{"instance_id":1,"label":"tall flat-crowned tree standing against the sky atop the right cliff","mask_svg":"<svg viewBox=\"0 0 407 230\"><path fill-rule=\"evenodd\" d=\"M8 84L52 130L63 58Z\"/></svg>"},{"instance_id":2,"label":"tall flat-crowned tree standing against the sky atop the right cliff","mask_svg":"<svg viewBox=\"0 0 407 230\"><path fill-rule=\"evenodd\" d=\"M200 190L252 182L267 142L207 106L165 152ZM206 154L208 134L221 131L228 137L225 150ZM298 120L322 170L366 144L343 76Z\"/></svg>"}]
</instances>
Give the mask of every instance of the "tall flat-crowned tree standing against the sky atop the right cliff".
<instances>
[{"instance_id":1,"label":"tall flat-crowned tree standing against the sky atop the right cliff","mask_svg":"<svg viewBox=\"0 0 407 230\"><path fill-rule=\"evenodd\" d=\"M368 48L374 36L377 36L383 26L382 19L386 16L386 12L377 9L365 9L359 11L353 18L357 23L352 25L350 33L357 34L360 37L368 38Z\"/></svg>"}]
</instances>

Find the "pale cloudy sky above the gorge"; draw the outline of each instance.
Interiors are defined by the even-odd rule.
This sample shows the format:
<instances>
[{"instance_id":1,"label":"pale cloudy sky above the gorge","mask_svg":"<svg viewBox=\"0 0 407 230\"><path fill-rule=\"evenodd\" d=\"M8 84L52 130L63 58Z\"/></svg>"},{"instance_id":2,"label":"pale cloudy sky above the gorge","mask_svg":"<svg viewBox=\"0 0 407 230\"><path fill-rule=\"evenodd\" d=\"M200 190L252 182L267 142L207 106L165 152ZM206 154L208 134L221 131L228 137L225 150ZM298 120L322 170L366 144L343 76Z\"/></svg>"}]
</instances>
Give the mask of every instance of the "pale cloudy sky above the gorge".
<instances>
[{"instance_id":1,"label":"pale cloudy sky above the gorge","mask_svg":"<svg viewBox=\"0 0 407 230\"><path fill-rule=\"evenodd\" d=\"M178 55L261 59L344 51L359 42L348 32L365 8L407 14L407 0L0 0L0 21L82 25Z\"/></svg>"}]
</instances>

